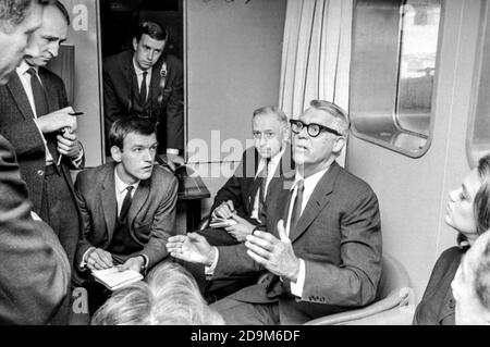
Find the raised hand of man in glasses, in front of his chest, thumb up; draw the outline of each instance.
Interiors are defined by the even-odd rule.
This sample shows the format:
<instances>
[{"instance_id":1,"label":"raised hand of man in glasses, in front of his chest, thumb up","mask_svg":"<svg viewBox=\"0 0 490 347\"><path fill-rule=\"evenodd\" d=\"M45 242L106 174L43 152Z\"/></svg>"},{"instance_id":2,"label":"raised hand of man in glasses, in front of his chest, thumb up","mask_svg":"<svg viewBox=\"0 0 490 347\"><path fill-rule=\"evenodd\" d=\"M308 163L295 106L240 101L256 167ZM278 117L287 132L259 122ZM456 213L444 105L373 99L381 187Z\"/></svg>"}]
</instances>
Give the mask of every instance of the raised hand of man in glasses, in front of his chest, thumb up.
<instances>
[{"instance_id":1,"label":"raised hand of man in glasses, in front of his chest, thumb up","mask_svg":"<svg viewBox=\"0 0 490 347\"><path fill-rule=\"evenodd\" d=\"M287 237L283 221L278 223L279 239L270 233L260 231L247 236L247 255L278 276L296 282L299 272L299 259Z\"/></svg>"}]
</instances>

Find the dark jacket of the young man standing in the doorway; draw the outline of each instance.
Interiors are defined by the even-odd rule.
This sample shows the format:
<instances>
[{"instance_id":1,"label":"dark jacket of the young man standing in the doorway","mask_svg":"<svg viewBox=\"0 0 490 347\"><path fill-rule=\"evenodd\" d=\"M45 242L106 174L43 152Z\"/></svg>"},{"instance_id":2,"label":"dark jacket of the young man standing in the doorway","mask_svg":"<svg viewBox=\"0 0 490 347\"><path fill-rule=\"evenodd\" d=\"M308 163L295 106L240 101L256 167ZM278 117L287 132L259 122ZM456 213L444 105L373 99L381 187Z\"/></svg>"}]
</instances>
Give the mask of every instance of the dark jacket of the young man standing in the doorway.
<instances>
[{"instance_id":1,"label":"dark jacket of the young man standing in the doorway","mask_svg":"<svg viewBox=\"0 0 490 347\"><path fill-rule=\"evenodd\" d=\"M184 149L184 72L174 55L163 54L154 65L146 104L139 101L139 86L133 65L133 50L103 61L103 112L106 138L112 123L130 111L158 119L158 140L166 148ZM167 61L167 79L160 86L160 70Z\"/></svg>"}]
</instances>

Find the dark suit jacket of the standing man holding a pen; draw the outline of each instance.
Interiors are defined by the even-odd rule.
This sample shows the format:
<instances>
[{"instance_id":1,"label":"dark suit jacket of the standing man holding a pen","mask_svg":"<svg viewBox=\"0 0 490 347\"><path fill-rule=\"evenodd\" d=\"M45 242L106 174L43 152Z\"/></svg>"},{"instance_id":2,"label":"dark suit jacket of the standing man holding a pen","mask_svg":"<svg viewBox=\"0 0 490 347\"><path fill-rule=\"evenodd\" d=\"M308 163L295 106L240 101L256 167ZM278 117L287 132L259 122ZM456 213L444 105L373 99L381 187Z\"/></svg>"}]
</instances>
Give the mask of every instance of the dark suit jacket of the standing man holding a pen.
<instances>
[{"instance_id":1,"label":"dark suit jacket of the standing man holding a pen","mask_svg":"<svg viewBox=\"0 0 490 347\"><path fill-rule=\"evenodd\" d=\"M63 80L42 67L39 69L39 77L48 97L49 112L68 107ZM2 114L0 117L0 134L5 136L15 149L21 173L27 183L28 194L34 205L34 211L39 213L42 200L46 149L42 135L34 122L34 113L27 95L16 73L12 74L5 86L0 86L0 113ZM58 162L56 135L54 133L45 134L50 153L54 162ZM66 181L73 199L75 199L70 169L83 169L83 163L79 168L74 168L69 158L63 157L61 160L61 174Z\"/></svg>"}]
</instances>

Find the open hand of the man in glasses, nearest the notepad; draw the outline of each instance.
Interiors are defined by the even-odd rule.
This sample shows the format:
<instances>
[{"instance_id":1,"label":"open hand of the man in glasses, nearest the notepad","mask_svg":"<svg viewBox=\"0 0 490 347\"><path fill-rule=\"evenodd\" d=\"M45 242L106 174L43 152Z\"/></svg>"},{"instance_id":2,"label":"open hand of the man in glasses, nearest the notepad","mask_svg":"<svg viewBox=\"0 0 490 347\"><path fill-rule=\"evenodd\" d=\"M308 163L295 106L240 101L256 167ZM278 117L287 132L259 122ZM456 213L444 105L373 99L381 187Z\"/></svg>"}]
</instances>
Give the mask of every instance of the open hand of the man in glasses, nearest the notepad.
<instances>
[{"instance_id":1,"label":"open hand of the man in glasses, nearest the notepad","mask_svg":"<svg viewBox=\"0 0 490 347\"><path fill-rule=\"evenodd\" d=\"M196 233L169 237L167 249L173 258L198 264L210 265L213 259L213 248Z\"/></svg>"}]
</instances>

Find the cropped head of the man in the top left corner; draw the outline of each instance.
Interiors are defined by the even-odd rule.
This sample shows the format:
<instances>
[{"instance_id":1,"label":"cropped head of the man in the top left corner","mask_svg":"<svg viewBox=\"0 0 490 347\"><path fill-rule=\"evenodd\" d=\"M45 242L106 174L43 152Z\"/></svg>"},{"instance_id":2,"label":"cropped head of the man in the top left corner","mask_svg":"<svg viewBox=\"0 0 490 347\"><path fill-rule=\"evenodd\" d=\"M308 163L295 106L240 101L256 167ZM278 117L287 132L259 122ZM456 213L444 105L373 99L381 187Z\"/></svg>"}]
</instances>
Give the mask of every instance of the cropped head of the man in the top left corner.
<instances>
[{"instance_id":1,"label":"cropped head of the man in the top left corner","mask_svg":"<svg viewBox=\"0 0 490 347\"><path fill-rule=\"evenodd\" d=\"M42 7L34 0L25 11L24 21L20 24L4 23L0 26L0 85L9 82L9 75L17 67L24 54L38 54L29 38L41 25Z\"/></svg>"}]
</instances>

